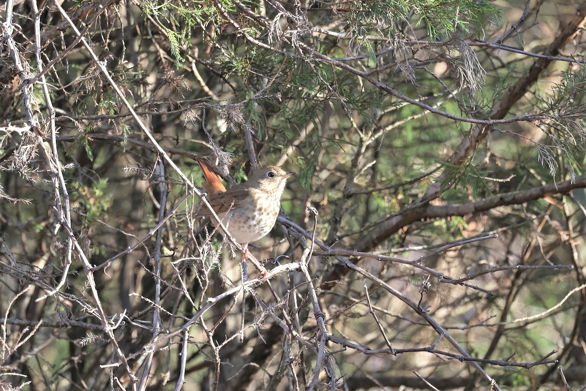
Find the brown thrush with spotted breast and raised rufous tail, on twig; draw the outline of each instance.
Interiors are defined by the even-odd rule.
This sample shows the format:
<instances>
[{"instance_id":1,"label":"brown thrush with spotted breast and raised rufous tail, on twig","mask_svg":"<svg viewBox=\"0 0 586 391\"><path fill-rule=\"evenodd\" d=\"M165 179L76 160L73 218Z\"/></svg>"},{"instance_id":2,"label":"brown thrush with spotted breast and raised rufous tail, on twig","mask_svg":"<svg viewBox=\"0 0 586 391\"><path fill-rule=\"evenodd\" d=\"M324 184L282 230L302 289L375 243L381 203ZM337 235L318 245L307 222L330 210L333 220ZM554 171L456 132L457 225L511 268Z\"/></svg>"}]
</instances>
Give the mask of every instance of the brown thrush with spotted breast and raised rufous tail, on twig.
<instances>
[{"instance_id":1,"label":"brown thrush with spotted breast and raised rufous tail, on twig","mask_svg":"<svg viewBox=\"0 0 586 391\"><path fill-rule=\"evenodd\" d=\"M212 165L206 158L197 158L202 169L209 204L226 227L230 236L236 240L243 250L241 261L252 260L258 268L260 265L250 251L248 243L256 242L271 232L277 222L281 209L281 196L287 185L287 178L297 172L285 172L277 166L265 166L255 171L246 182L239 183L227 189L213 171ZM209 208L202 208L194 216L211 216ZM216 222L213 222L216 225ZM220 227L220 231L223 229ZM263 270L263 277L267 271Z\"/></svg>"}]
</instances>

